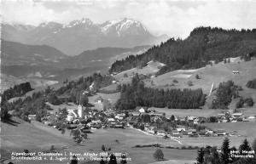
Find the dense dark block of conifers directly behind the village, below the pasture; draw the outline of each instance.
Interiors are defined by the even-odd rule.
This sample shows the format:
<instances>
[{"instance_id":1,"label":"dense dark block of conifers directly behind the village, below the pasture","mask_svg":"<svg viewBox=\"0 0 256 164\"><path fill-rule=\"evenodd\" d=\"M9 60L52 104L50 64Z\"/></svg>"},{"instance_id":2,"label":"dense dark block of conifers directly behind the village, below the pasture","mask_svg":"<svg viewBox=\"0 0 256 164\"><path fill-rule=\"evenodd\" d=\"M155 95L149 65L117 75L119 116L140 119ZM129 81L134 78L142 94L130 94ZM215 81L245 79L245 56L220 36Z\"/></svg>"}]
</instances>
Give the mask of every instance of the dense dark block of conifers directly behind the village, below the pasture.
<instances>
[{"instance_id":1,"label":"dense dark block of conifers directly behind the village, below the pasture","mask_svg":"<svg viewBox=\"0 0 256 164\"><path fill-rule=\"evenodd\" d=\"M197 109L205 104L206 99L201 89L146 88L138 75L132 78L131 84L123 84L119 89L121 95L116 103L116 108L119 110L133 110L137 106Z\"/></svg>"}]
</instances>

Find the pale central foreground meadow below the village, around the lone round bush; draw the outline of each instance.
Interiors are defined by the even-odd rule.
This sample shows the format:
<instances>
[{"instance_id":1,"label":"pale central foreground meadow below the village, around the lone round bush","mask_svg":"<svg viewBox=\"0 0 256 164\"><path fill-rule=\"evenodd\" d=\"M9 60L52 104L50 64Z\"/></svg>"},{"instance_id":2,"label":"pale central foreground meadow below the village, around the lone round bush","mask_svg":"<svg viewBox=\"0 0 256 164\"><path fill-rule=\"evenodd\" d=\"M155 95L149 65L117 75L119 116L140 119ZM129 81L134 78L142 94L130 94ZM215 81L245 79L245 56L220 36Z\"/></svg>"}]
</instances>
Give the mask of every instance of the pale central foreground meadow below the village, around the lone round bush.
<instances>
[{"instance_id":1,"label":"pale central foreground meadow below the village, around the lone round bush","mask_svg":"<svg viewBox=\"0 0 256 164\"><path fill-rule=\"evenodd\" d=\"M126 152L131 161L128 163L143 164L154 162L154 151L157 148L133 148L136 144L163 144L170 146L180 146L176 141L171 139L162 139L155 136L149 136L134 129L108 129L95 130L90 134L90 139L81 147L72 147L67 151L73 152L101 152L102 144L111 147L112 152ZM116 142L118 140L118 142ZM194 160L196 150L172 150L162 148L166 159L175 160Z\"/></svg>"}]
</instances>

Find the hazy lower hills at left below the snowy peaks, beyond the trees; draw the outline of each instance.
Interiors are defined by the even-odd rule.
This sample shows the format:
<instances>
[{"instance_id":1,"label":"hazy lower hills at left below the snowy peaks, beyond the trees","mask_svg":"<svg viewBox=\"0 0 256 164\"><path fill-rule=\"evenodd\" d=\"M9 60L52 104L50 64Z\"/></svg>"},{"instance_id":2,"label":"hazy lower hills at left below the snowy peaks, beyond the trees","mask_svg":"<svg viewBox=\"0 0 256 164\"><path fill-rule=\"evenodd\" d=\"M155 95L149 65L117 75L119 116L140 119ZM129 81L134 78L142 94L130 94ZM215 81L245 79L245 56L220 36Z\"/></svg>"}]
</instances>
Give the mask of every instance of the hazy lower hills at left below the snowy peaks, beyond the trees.
<instances>
[{"instance_id":1,"label":"hazy lower hills at left below the snowy peaks, beyond the trees","mask_svg":"<svg viewBox=\"0 0 256 164\"><path fill-rule=\"evenodd\" d=\"M150 46L96 48L75 56L67 56L58 49L47 45L27 45L2 39L1 73L12 77L9 78L11 81L20 79L17 82L38 83L38 80L39 83L42 83L42 80L60 82L66 78L86 75L91 72L108 71L108 67L116 59L124 59L131 54L142 54L148 48ZM15 83L9 82L5 76L1 76L1 78L2 81L6 80L6 84Z\"/></svg>"}]
</instances>

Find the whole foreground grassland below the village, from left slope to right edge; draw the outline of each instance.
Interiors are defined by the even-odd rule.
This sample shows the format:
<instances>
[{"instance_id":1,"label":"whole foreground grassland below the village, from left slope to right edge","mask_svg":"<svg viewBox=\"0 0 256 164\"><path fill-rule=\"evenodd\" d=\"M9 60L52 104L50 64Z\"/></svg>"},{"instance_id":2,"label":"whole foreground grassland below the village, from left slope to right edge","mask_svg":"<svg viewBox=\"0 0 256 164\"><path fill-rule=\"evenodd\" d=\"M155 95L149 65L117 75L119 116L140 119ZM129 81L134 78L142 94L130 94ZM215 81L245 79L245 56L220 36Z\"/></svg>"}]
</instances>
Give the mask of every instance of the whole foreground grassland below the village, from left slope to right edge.
<instances>
[{"instance_id":1,"label":"whole foreground grassland below the village, from left slope to right edge","mask_svg":"<svg viewBox=\"0 0 256 164\"><path fill-rule=\"evenodd\" d=\"M20 120L18 120L20 122ZM241 124L206 124L212 128L229 128L230 131L236 130L241 134L247 134L255 136L256 122L238 122ZM1 143L3 149L8 150L32 150L49 149L50 145L54 144L56 148L61 145L67 145L73 143L68 133L62 135L59 131L52 127L44 126L39 122L32 122L32 124L26 122L20 122L19 127L10 127L11 125L3 124L2 133L8 134L8 136L1 136ZM246 128L245 128L246 127ZM253 129L253 130L252 130ZM27 133L32 133L28 135ZM183 145L194 145L194 146L205 146L205 145L216 145L220 146L223 142L223 137L200 137L200 138L188 138L177 139L182 144L172 139L162 139L160 137L151 136L143 132L139 132L135 129L97 129L93 133L88 135L87 140L80 145L73 145L65 150L58 150L59 152L72 153L100 153L102 152L102 144L107 148L111 148L109 152L125 152L128 157L131 157L131 161L128 163L132 164L146 164L154 163L154 151L158 148L155 147L144 147L135 148L137 144L148 145L148 144L161 144L165 146L180 147ZM232 137L230 138L230 145L238 146L241 144L242 139L245 137ZM253 137L247 137L251 142ZM195 160L196 150L177 150L177 149L166 149L161 148L165 155L166 160L154 164L177 164L177 163L190 163ZM85 161L80 161L81 163ZM32 161L20 161L19 163L33 163ZM50 163L50 164L61 164L63 161L41 161L37 163Z\"/></svg>"}]
</instances>

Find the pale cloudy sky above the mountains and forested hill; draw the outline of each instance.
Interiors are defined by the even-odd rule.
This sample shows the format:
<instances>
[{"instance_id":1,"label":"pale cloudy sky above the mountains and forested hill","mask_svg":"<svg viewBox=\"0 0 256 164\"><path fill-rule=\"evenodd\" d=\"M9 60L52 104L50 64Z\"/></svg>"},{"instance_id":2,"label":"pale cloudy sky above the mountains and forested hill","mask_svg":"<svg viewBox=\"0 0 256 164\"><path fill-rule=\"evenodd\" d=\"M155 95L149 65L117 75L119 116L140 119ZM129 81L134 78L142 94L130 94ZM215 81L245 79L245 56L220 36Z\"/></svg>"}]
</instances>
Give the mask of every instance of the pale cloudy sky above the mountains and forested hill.
<instances>
[{"instance_id":1,"label":"pale cloudy sky above the mountains and forested hill","mask_svg":"<svg viewBox=\"0 0 256 164\"><path fill-rule=\"evenodd\" d=\"M255 8L255 0L2 0L0 11L3 22L27 25L130 18L154 35L184 38L201 25L256 28Z\"/></svg>"}]
</instances>

